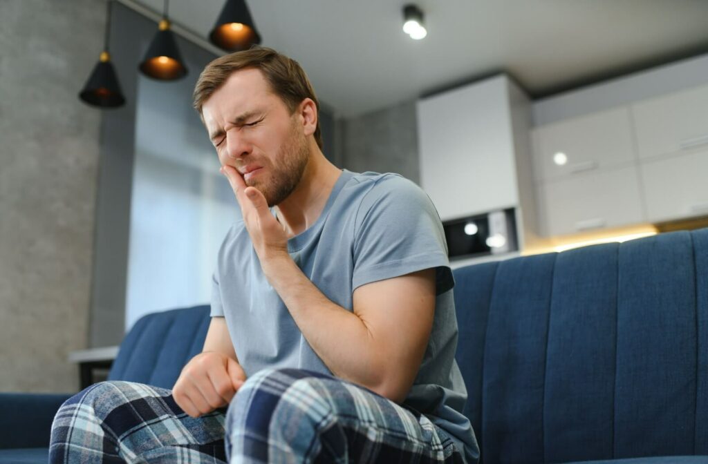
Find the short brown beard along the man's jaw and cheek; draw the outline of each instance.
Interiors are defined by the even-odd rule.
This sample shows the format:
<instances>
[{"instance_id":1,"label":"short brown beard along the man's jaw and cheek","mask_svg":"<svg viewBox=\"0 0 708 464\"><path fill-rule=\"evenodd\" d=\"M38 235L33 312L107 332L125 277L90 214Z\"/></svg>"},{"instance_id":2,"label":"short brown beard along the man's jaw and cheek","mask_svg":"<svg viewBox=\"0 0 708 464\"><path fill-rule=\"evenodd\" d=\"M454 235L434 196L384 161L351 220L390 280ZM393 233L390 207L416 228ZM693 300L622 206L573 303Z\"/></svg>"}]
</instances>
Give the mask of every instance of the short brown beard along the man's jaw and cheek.
<instances>
[{"instance_id":1,"label":"short brown beard along the man's jaw and cheek","mask_svg":"<svg viewBox=\"0 0 708 464\"><path fill-rule=\"evenodd\" d=\"M275 163L270 166L273 169L271 181L264 184L254 179L253 182L246 182L246 185L261 190L265 201L268 202L268 207L272 208L283 202L295 190L305 172L307 161L309 161L307 139L302 137L297 132L295 124L292 124L287 143L280 147Z\"/></svg>"}]
</instances>

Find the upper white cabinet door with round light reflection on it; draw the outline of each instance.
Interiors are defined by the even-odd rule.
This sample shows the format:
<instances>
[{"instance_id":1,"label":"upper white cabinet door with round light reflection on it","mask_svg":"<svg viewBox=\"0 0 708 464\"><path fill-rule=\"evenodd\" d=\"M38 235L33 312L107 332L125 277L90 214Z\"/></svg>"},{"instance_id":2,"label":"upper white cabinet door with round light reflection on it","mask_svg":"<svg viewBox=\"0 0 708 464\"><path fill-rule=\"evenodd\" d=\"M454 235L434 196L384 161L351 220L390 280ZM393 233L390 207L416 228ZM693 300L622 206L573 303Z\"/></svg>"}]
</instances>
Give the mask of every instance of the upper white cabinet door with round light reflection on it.
<instances>
[{"instance_id":1,"label":"upper white cabinet door with round light reflection on it","mask_svg":"<svg viewBox=\"0 0 708 464\"><path fill-rule=\"evenodd\" d=\"M532 137L537 180L563 178L636 159L628 107L539 126ZM565 164L556 163L556 153L564 153Z\"/></svg>"}]
</instances>

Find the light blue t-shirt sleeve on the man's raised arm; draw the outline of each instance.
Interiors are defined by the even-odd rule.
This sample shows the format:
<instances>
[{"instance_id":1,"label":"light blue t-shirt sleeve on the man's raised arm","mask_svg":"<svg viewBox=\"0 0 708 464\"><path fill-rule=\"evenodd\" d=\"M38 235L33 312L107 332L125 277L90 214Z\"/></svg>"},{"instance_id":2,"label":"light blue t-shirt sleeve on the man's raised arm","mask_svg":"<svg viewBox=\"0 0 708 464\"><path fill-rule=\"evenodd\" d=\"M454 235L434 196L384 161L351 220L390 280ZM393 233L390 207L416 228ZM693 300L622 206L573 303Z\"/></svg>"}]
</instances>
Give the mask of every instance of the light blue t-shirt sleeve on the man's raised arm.
<instances>
[{"instance_id":1,"label":"light blue t-shirt sleeve on the man's raised arm","mask_svg":"<svg viewBox=\"0 0 708 464\"><path fill-rule=\"evenodd\" d=\"M420 187L399 175L381 178L355 221L352 289L435 268L436 294L452 289L440 216Z\"/></svg>"}]
</instances>

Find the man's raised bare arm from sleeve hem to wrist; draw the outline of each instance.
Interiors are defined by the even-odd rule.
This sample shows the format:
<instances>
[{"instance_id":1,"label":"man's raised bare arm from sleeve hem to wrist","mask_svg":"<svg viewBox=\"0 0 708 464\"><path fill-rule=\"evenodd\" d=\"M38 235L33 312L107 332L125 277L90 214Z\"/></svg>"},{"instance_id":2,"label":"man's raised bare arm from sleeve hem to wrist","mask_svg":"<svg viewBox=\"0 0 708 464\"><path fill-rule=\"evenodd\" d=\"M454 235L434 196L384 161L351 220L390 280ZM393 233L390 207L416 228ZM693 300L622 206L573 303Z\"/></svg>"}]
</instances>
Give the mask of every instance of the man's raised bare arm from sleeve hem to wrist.
<instances>
[{"instance_id":1,"label":"man's raised bare arm from sleeve hem to wrist","mask_svg":"<svg viewBox=\"0 0 708 464\"><path fill-rule=\"evenodd\" d=\"M433 327L435 270L354 291L353 312L326 298L292 260L263 270L314 352L338 377L402 402Z\"/></svg>"}]
</instances>

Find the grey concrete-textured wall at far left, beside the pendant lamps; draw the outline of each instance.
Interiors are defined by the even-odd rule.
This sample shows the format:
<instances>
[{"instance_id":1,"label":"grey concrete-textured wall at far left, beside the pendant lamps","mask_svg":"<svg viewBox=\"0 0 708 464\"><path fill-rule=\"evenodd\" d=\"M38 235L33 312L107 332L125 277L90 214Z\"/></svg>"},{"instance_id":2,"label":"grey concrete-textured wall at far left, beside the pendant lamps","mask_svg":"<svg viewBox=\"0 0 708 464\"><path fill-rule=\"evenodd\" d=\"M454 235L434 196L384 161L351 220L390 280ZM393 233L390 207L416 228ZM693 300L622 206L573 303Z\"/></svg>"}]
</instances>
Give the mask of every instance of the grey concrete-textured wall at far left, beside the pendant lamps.
<instances>
[{"instance_id":1,"label":"grey concrete-textured wall at far left, beside the pendant lamps","mask_svg":"<svg viewBox=\"0 0 708 464\"><path fill-rule=\"evenodd\" d=\"M0 390L76 391L101 112L77 97L105 3L0 1Z\"/></svg>"}]
</instances>

